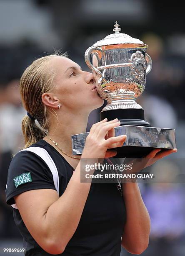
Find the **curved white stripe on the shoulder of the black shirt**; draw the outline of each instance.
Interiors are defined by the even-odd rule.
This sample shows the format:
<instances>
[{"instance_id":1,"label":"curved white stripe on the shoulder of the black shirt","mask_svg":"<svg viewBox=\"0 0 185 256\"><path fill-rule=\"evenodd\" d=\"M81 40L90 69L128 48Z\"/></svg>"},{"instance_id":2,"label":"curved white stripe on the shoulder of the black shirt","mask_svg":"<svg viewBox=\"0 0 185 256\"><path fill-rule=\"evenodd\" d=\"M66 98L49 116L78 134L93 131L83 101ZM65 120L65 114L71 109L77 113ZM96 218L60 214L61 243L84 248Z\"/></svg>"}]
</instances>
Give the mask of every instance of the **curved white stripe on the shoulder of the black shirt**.
<instances>
[{"instance_id":1,"label":"curved white stripe on the shoulder of the black shirt","mask_svg":"<svg viewBox=\"0 0 185 256\"><path fill-rule=\"evenodd\" d=\"M40 147L30 147L30 148L22 149L21 151L33 152L33 153L37 154L38 156L40 156L43 161L45 161L45 163L47 164L47 166L49 167L49 169L52 173L55 189L57 190L57 193L59 194L59 176L58 176L57 167L56 167L54 161L52 160L50 154L47 152L47 150L45 150L44 148L40 148ZM19 151L19 152L21 152L21 151ZM12 207L15 209L18 209L16 204L13 204Z\"/></svg>"}]
</instances>

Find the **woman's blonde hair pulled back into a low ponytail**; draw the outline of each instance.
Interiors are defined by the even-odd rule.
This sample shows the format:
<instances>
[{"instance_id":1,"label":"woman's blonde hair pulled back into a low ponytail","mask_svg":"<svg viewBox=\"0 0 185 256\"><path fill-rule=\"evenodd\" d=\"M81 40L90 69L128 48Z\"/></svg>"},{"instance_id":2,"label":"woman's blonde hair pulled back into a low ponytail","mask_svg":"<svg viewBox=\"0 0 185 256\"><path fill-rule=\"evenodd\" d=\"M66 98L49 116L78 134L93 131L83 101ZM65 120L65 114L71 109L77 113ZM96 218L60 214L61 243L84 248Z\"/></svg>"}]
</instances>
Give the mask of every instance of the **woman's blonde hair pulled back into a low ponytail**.
<instances>
[{"instance_id":1,"label":"woman's blonde hair pulled back into a low ponytail","mask_svg":"<svg viewBox=\"0 0 185 256\"><path fill-rule=\"evenodd\" d=\"M41 138L44 138L49 129L49 113L52 113L52 109L46 108L42 102L42 94L50 92L55 87L55 71L49 66L50 60L55 56L67 57L67 54L56 53L36 59L25 69L20 78L22 104L39 123L38 126L35 120L29 118L28 115L24 116L22 131L25 146L23 148L28 148Z\"/></svg>"}]
</instances>

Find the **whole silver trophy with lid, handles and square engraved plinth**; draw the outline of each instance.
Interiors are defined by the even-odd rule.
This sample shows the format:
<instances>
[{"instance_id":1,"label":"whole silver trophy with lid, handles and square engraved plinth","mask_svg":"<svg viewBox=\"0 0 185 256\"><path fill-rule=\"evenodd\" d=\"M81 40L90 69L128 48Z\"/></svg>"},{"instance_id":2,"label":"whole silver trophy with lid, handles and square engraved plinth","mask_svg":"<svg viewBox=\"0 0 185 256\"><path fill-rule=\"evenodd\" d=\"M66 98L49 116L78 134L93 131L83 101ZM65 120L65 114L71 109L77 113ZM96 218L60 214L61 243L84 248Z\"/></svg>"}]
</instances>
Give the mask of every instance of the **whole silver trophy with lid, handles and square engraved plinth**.
<instances>
[{"instance_id":1,"label":"whole silver trophy with lid, handles and square engraved plinth","mask_svg":"<svg viewBox=\"0 0 185 256\"><path fill-rule=\"evenodd\" d=\"M114 26L115 33L87 49L85 61L95 75L98 95L108 103L100 120L118 118L121 124L115 128L115 136L127 135L124 145L116 148L116 157L142 157L153 148L175 148L175 130L150 127L143 108L135 101L143 93L146 74L152 69L146 53L148 45L120 33L117 21ZM82 154L87 135L72 135L73 154Z\"/></svg>"}]
</instances>

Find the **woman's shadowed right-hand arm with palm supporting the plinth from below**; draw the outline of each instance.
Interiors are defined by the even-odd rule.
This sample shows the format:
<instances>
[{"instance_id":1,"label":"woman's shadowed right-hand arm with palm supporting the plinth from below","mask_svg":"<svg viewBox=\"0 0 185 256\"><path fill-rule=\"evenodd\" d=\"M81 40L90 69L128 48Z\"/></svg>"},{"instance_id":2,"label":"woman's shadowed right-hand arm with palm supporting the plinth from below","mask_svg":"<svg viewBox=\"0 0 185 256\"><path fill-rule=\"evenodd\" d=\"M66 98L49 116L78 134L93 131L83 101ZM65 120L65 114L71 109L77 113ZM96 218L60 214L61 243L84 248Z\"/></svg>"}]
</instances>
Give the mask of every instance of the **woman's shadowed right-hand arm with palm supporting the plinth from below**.
<instances>
[{"instance_id":1,"label":"woman's shadowed right-hand arm with palm supporting the plinth from below","mask_svg":"<svg viewBox=\"0 0 185 256\"><path fill-rule=\"evenodd\" d=\"M154 164L159 159L175 152L177 152L177 148L168 149L162 152L160 152L160 148L156 148L143 159L128 159L128 161L134 163L132 172L137 173L145 167ZM140 254L148 247L150 216L136 182L124 183L122 184L122 189L127 214L127 220L122 236L122 246L130 253Z\"/></svg>"}]
</instances>

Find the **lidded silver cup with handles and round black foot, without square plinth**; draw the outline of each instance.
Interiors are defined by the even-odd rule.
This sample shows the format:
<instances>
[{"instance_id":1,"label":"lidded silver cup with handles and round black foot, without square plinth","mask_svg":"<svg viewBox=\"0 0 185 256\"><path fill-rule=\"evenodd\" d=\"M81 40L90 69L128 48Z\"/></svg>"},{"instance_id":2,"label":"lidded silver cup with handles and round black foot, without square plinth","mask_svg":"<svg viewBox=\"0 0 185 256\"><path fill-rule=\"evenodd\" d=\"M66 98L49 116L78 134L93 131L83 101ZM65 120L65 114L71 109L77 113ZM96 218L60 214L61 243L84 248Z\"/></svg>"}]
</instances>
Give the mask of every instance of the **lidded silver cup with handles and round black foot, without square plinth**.
<instances>
[{"instance_id":1,"label":"lidded silver cup with handles and round black foot, without square plinth","mask_svg":"<svg viewBox=\"0 0 185 256\"><path fill-rule=\"evenodd\" d=\"M115 33L96 42L85 52L86 64L94 72L97 93L108 102L100 119L118 118L121 125L150 126L144 121L143 108L135 101L143 93L146 74L152 69L152 60L146 54L148 46L120 33L117 21L114 26Z\"/></svg>"}]
</instances>

